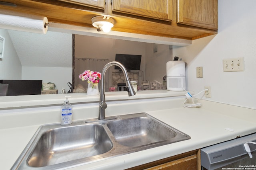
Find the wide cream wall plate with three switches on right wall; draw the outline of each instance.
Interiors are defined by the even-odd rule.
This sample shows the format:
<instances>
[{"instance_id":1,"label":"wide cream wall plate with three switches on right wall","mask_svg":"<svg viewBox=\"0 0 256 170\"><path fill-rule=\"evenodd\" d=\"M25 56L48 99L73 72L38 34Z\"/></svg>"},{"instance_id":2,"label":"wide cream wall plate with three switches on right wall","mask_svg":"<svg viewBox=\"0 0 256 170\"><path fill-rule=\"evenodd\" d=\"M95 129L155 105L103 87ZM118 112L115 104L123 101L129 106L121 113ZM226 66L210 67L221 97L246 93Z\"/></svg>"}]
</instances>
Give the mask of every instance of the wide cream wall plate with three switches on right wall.
<instances>
[{"instance_id":1,"label":"wide cream wall plate with three switches on right wall","mask_svg":"<svg viewBox=\"0 0 256 170\"><path fill-rule=\"evenodd\" d=\"M244 58L223 59L223 71L244 71Z\"/></svg>"}]
</instances>

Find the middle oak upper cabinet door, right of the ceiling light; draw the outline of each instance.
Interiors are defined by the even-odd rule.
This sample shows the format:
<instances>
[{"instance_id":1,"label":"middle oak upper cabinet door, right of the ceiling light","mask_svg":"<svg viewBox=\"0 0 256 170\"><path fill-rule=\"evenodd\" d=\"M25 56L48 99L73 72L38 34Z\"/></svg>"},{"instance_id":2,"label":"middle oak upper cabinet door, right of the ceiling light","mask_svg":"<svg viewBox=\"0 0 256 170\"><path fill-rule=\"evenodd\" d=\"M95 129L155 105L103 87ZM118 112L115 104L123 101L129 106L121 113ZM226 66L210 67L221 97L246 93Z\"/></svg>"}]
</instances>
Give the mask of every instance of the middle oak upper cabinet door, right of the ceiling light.
<instances>
[{"instance_id":1,"label":"middle oak upper cabinet door, right of the ceiling light","mask_svg":"<svg viewBox=\"0 0 256 170\"><path fill-rule=\"evenodd\" d=\"M171 0L112 0L112 11L160 20L172 20Z\"/></svg>"}]
</instances>

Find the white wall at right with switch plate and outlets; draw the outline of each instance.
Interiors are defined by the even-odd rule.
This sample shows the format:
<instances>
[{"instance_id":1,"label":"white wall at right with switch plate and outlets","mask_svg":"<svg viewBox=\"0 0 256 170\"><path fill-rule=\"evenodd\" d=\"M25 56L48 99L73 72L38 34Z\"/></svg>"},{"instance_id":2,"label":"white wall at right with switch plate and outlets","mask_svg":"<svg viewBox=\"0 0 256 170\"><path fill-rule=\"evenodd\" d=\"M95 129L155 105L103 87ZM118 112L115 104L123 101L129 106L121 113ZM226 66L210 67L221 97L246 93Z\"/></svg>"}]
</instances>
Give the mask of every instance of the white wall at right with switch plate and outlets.
<instances>
[{"instance_id":1,"label":"white wall at right with switch plate and outlets","mask_svg":"<svg viewBox=\"0 0 256 170\"><path fill-rule=\"evenodd\" d=\"M218 34L173 47L186 62L186 87L195 93L211 86L206 100L256 109L256 1L219 0ZM222 60L244 57L243 72L223 72ZM203 78L196 78L196 67Z\"/></svg>"}]
</instances>

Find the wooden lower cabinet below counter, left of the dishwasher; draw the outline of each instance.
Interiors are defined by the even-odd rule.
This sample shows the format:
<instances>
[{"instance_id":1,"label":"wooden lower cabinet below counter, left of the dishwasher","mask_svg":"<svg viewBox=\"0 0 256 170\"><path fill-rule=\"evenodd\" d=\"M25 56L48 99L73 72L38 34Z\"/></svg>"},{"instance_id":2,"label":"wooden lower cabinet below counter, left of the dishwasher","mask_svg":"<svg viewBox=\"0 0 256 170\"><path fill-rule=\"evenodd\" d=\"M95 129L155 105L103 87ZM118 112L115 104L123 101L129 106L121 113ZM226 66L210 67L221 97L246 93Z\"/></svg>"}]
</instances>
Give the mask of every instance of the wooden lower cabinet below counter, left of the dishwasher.
<instances>
[{"instance_id":1,"label":"wooden lower cabinet below counter, left of the dishwasher","mask_svg":"<svg viewBox=\"0 0 256 170\"><path fill-rule=\"evenodd\" d=\"M200 149L135 166L127 170L201 170Z\"/></svg>"}]
</instances>

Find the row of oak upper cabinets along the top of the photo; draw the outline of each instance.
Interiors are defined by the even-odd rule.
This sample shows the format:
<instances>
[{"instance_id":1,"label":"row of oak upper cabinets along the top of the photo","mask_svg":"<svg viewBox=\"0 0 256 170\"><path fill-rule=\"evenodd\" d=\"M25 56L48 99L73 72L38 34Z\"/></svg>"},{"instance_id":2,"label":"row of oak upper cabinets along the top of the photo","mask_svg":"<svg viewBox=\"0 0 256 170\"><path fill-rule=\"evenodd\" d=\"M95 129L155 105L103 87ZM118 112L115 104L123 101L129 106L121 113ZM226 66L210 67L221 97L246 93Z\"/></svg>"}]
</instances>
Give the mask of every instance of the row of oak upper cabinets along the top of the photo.
<instances>
[{"instance_id":1,"label":"row of oak upper cabinets along the top of the photo","mask_svg":"<svg viewBox=\"0 0 256 170\"><path fill-rule=\"evenodd\" d=\"M218 0L4 0L0 10L46 16L49 22L91 27L114 18L113 31L194 40L218 32ZM106 3L105 3L106 2ZM178 9L177 9L178 8ZM177 23L178 22L178 23Z\"/></svg>"}]
</instances>

